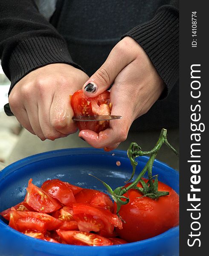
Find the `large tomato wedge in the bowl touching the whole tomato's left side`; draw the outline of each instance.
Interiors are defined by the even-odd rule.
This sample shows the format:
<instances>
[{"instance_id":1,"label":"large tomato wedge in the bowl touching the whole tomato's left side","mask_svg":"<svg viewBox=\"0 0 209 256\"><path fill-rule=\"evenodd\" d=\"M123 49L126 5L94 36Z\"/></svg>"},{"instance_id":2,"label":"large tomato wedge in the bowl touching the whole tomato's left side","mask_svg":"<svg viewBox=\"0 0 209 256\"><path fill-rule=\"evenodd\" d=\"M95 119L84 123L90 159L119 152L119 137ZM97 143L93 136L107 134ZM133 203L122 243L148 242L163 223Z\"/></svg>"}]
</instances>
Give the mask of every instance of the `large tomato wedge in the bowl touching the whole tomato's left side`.
<instances>
[{"instance_id":1,"label":"large tomato wedge in the bowl touching the whole tomato's left side","mask_svg":"<svg viewBox=\"0 0 209 256\"><path fill-rule=\"evenodd\" d=\"M114 227L122 228L122 221L116 214L90 204L73 204L73 218L78 223L78 229L84 232L104 230L111 235Z\"/></svg>"}]
</instances>

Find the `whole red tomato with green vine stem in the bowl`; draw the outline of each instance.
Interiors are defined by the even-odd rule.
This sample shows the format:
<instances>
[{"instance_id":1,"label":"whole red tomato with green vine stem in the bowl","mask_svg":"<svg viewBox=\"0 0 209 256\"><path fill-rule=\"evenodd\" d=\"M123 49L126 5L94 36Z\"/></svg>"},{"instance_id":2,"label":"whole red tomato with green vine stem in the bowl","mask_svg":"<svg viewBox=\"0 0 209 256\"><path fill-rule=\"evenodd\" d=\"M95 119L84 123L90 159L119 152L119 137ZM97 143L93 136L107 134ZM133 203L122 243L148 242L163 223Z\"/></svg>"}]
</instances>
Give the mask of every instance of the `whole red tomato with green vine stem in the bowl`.
<instances>
[{"instance_id":1,"label":"whole red tomato with green vine stem in the bowl","mask_svg":"<svg viewBox=\"0 0 209 256\"><path fill-rule=\"evenodd\" d=\"M126 184L126 187L130 185ZM139 187L141 183L138 183ZM142 197L136 189L130 189L126 194L130 202L122 205L119 215L125 221L123 228L116 227L120 238L129 242L140 241L157 236L171 227L179 224L179 196L170 186L158 182L159 191L168 191L169 195L158 199ZM116 205L115 205L116 212Z\"/></svg>"}]
</instances>

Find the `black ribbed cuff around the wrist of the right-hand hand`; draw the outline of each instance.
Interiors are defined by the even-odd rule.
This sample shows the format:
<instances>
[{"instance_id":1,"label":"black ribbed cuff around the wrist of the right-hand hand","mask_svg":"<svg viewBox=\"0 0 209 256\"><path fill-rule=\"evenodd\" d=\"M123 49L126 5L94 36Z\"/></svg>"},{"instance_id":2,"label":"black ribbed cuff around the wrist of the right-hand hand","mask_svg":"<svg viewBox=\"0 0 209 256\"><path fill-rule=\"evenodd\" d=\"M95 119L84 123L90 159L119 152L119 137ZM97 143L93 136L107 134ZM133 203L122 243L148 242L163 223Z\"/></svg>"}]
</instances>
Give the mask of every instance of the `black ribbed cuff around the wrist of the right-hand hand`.
<instances>
[{"instance_id":1,"label":"black ribbed cuff around the wrist of the right-hand hand","mask_svg":"<svg viewBox=\"0 0 209 256\"><path fill-rule=\"evenodd\" d=\"M179 20L178 10L171 6L160 8L155 17L122 36L130 36L145 50L166 89L165 98L178 79L179 74Z\"/></svg>"}]
</instances>

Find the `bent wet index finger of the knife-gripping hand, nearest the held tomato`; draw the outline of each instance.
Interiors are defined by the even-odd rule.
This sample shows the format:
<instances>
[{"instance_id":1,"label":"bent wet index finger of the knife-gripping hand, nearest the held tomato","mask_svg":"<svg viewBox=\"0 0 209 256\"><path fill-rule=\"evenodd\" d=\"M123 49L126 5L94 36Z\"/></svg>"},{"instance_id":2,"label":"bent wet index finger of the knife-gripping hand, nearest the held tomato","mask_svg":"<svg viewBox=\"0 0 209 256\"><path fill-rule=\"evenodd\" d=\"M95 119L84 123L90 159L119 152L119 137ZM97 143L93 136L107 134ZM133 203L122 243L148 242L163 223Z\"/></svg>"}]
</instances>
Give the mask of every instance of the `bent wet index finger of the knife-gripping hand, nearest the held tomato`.
<instances>
[{"instance_id":1,"label":"bent wet index finger of the knife-gripping hand, nearest the held tomato","mask_svg":"<svg viewBox=\"0 0 209 256\"><path fill-rule=\"evenodd\" d=\"M66 93L54 95L49 116L52 127L62 134L69 135L78 130L77 125L72 120L73 109L70 104L70 97Z\"/></svg>"}]
</instances>

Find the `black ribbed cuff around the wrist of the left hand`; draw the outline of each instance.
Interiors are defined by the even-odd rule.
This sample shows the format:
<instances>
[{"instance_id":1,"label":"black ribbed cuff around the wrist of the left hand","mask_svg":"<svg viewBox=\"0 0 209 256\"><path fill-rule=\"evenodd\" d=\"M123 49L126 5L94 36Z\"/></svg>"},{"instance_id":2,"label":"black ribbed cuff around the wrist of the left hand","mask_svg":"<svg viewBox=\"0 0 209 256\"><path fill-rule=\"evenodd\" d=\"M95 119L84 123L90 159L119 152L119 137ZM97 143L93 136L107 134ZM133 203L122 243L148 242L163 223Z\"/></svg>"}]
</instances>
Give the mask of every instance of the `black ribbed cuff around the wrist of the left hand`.
<instances>
[{"instance_id":1,"label":"black ribbed cuff around the wrist of the left hand","mask_svg":"<svg viewBox=\"0 0 209 256\"><path fill-rule=\"evenodd\" d=\"M70 56L65 41L52 37L37 37L22 41L17 45L9 60L11 92L14 85L32 70L47 64L65 63L80 70Z\"/></svg>"}]
</instances>

